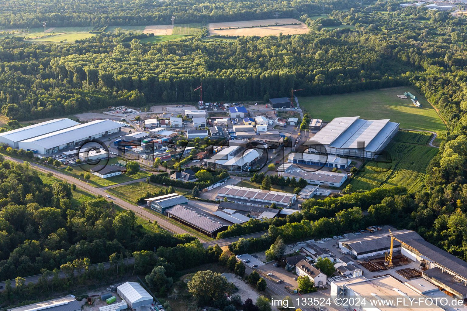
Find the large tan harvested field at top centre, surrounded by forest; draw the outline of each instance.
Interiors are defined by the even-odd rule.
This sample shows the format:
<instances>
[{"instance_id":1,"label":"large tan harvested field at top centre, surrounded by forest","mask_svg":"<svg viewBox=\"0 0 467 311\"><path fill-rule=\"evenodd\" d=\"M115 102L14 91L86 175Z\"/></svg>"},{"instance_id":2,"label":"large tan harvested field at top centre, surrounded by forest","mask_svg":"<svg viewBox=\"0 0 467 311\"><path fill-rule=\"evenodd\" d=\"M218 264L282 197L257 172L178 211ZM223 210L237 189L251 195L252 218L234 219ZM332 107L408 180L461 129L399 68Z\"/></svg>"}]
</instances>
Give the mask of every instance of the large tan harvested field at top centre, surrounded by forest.
<instances>
[{"instance_id":1,"label":"large tan harvested field at top centre, surrounded by forest","mask_svg":"<svg viewBox=\"0 0 467 311\"><path fill-rule=\"evenodd\" d=\"M306 34L310 29L304 23L293 18L280 18L257 21L231 21L223 23L209 23L209 35L299 35ZM298 25L284 25L298 24ZM270 25L270 26L268 26ZM262 27L259 27L262 26ZM230 28L230 29L229 29Z\"/></svg>"}]
</instances>

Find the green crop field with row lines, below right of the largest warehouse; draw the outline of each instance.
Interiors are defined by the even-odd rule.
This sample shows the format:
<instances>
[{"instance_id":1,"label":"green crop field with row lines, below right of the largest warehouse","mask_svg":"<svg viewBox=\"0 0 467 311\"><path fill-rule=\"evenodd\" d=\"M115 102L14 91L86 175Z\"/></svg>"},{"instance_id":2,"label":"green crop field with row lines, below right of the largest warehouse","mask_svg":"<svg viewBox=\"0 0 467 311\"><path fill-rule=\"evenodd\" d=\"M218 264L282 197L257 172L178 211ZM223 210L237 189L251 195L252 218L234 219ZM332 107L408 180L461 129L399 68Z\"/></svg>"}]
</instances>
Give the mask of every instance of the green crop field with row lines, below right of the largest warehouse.
<instances>
[{"instance_id":1,"label":"green crop field with row lines, below right of the largest warehouse","mask_svg":"<svg viewBox=\"0 0 467 311\"><path fill-rule=\"evenodd\" d=\"M421 138L423 142L425 138ZM354 190L371 190L375 187L404 186L409 193L421 190L426 167L438 148L392 141L385 149L389 156L380 156L376 163L366 162L365 171L350 181ZM388 163L381 163L387 161Z\"/></svg>"}]
</instances>

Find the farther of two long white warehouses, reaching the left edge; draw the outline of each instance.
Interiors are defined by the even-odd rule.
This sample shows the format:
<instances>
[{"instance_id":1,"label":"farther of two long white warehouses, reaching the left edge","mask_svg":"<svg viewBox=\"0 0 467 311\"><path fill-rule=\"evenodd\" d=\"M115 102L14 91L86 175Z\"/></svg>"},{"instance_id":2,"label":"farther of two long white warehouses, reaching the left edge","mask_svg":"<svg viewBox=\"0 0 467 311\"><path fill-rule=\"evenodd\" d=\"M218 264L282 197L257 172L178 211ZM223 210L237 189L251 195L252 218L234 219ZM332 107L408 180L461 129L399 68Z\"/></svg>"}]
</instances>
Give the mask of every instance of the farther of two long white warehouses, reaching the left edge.
<instances>
[{"instance_id":1,"label":"farther of two long white warehouses, reaching the left edge","mask_svg":"<svg viewBox=\"0 0 467 311\"><path fill-rule=\"evenodd\" d=\"M34 138L53 131L59 131L79 123L70 119L53 119L50 121L21 127L20 129L0 133L0 143L10 145L12 148L18 148L18 143L22 140Z\"/></svg>"}]
</instances>

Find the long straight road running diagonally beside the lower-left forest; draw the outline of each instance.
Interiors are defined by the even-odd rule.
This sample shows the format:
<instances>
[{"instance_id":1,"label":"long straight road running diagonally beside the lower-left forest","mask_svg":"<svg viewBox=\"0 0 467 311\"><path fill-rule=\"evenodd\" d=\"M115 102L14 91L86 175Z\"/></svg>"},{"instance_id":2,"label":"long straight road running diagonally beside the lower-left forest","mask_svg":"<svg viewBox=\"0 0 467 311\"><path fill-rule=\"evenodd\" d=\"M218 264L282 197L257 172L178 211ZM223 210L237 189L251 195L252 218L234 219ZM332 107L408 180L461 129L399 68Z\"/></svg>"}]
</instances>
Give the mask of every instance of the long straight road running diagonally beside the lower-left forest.
<instances>
[{"instance_id":1,"label":"long straight road running diagonally beside the lower-left forest","mask_svg":"<svg viewBox=\"0 0 467 311\"><path fill-rule=\"evenodd\" d=\"M12 160L12 161L15 161L15 162L23 163L23 161L19 160L19 159L14 159L14 158L7 157L7 156L5 156L5 158L9 159L9 160ZM60 178L62 180L68 180L70 182L73 182L76 185L76 187L82 188L83 190L85 190L87 192L90 192L90 193L92 193L94 195L101 195L103 197L106 197L106 195L107 195L107 193L105 192L105 188L92 187L91 185L89 185L88 183L86 183L86 182L84 182L82 180L72 178L69 175L66 175L64 173L60 173L60 172L58 172L58 171L56 171L54 169L51 169L49 167L46 167L46 166L42 166L42 165L35 164L35 163L30 163L30 165L33 166L34 168L36 168L39 171L42 171L42 172L45 172L45 173L50 172L50 173L54 174L55 176L57 176L58 178ZM178 233L178 234L188 233L189 234L189 232L184 230L183 228L180 228L180 227L170 223L169 221L166 221L166 220L164 220L164 219L162 219L160 217L157 217L156 215L154 215L152 213L149 213L143 207L134 206L133 204L130 204L130 203L124 201L124 200L121 200L120 198L115 197L112 194L110 194L110 198L107 198L107 200L112 201L113 203L119 205L122 208L134 211L135 214L137 214L138 216L140 216L142 218L150 219L151 221L157 221L157 223L161 227L163 227L164 229L166 229L166 230L168 230L168 231L170 231L172 233ZM202 240L202 239L199 239L199 240L201 242L206 242L206 240Z\"/></svg>"}]
</instances>

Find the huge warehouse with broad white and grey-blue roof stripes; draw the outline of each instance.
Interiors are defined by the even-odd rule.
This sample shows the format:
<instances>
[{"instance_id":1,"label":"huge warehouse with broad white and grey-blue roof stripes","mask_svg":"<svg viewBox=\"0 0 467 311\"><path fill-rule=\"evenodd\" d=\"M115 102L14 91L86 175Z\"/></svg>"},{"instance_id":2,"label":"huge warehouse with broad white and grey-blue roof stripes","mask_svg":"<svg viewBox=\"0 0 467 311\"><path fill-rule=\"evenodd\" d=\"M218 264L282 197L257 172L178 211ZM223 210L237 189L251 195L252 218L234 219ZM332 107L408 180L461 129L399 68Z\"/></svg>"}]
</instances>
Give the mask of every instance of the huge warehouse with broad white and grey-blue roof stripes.
<instances>
[{"instance_id":1,"label":"huge warehouse with broad white and grey-blue roof stripes","mask_svg":"<svg viewBox=\"0 0 467 311\"><path fill-rule=\"evenodd\" d=\"M305 145L316 153L375 159L399 130L399 123L336 117Z\"/></svg>"}]
</instances>

